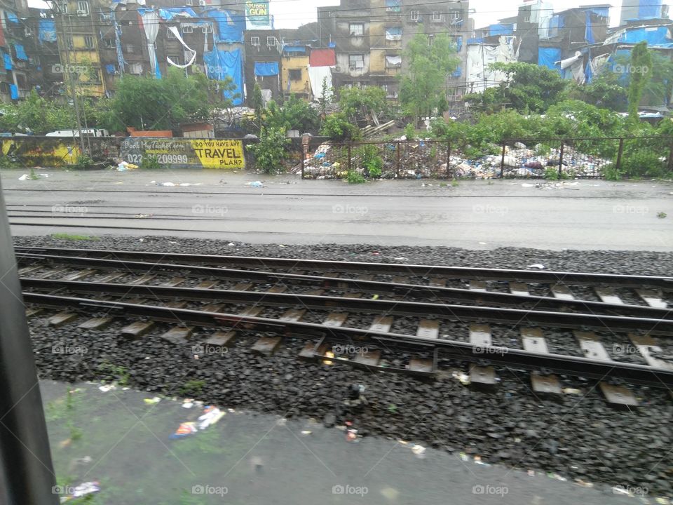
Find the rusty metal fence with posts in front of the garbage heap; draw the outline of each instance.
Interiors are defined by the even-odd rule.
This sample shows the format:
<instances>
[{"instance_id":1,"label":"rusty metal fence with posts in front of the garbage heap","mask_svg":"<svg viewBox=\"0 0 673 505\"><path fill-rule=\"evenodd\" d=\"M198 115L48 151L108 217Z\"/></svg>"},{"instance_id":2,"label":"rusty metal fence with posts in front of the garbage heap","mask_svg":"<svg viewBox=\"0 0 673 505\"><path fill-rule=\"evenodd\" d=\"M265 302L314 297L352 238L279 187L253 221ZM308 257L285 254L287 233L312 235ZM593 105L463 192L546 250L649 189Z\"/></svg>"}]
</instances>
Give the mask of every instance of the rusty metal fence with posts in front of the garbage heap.
<instances>
[{"instance_id":1,"label":"rusty metal fence with posts in front of the garbage heap","mask_svg":"<svg viewBox=\"0 0 673 505\"><path fill-rule=\"evenodd\" d=\"M383 179L671 177L673 137L509 139L482 150L441 140L308 140L299 157L295 169L306 179L354 172Z\"/></svg>"}]
</instances>

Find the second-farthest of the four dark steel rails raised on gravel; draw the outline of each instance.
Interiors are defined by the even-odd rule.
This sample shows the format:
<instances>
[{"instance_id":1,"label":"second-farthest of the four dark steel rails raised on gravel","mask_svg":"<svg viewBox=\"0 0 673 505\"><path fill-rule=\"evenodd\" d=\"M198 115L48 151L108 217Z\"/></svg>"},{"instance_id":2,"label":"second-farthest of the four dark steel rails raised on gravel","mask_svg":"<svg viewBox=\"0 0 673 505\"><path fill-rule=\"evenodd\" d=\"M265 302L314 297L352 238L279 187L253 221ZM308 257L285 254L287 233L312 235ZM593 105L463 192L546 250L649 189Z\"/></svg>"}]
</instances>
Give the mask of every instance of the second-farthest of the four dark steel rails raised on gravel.
<instances>
[{"instance_id":1,"label":"second-farthest of the four dark steel rails raised on gravel","mask_svg":"<svg viewBox=\"0 0 673 505\"><path fill-rule=\"evenodd\" d=\"M184 274L185 270L205 278L217 278L236 281L261 281L264 283L285 283L288 285L318 285L321 288L334 290L359 290L376 294L388 293L404 297L434 298L440 302L464 302L475 305L499 304L505 307L520 307L529 309L544 309L550 311L587 311L591 314L607 314L613 316L632 316L643 318L673 318L673 312L668 309L655 309L640 305L607 304L604 302L590 302L586 300L566 300L553 297L538 297L533 295L516 295L513 293L486 292L464 290L457 288L440 288L436 286L397 284L382 281L363 281L360 279L334 278L322 276L306 276L300 274L276 274L273 272L255 270L236 270L213 267L189 266L172 263L127 262L123 260L104 260L79 256L48 256L24 254L18 261L44 260L46 262L66 263L75 267L93 267L96 269L114 269L118 271L133 271L141 273L165 271L173 274Z\"/></svg>"}]
</instances>

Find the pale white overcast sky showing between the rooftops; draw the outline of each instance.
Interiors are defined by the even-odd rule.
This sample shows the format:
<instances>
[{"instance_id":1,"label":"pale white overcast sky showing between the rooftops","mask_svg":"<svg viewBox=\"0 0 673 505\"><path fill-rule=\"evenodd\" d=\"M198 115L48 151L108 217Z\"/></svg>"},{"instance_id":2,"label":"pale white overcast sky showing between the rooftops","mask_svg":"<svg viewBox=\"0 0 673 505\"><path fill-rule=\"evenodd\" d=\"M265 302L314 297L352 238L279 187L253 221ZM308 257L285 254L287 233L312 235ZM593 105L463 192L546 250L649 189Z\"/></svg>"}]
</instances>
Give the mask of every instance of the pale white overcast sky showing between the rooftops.
<instances>
[{"instance_id":1,"label":"pale white overcast sky showing between the rooftops","mask_svg":"<svg viewBox=\"0 0 673 505\"><path fill-rule=\"evenodd\" d=\"M423 0L420 0L421 3ZM471 0L470 8L475 9L472 17L475 18L477 27L483 27L497 22L499 18L508 18L517 13L520 0ZM555 0L552 2L555 11L564 11L566 8L578 7L590 4L611 4L611 25L619 24L619 12L621 0ZM665 4L673 4L673 1L665 1ZM271 13L276 18L276 28L296 28L307 22L315 21L315 8L319 6L338 5L339 0L271 0Z\"/></svg>"}]
</instances>

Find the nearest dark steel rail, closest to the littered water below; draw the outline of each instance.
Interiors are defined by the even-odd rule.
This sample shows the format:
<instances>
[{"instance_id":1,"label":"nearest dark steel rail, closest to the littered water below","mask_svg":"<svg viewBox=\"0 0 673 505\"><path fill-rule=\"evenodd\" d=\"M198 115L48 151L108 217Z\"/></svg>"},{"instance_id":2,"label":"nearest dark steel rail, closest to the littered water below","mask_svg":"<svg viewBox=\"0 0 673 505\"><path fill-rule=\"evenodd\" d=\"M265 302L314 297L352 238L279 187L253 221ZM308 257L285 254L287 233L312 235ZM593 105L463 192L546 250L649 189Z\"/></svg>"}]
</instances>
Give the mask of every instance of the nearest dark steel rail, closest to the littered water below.
<instances>
[{"instance_id":1,"label":"nearest dark steel rail, closest to the littered water below","mask_svg":"<svg viewBox=\"0 0 673 505\"><path fill-rule=\"evenodd\" d=\"M107 311L108 314L125 318L151 318L153 321L165 321L184 325L207 327L227 327L238 330L276 332L280 335L308 339L327 337L343 342L377 342L386 348L402 346L421 351L438 349L442 358L453 358L471 361L481 365L503 365L508 368L522 370L545 370L562 375L573 375L604 380L620 379L630 384L641 384L658 388L670 389L673 386L673 370L653 368L634 363L618 361L599 361L560 354L540 354L519 349L508 349L491 346L485 348L492 354L482 354L484 349L475 349L467 342L454 340L414 337L397 333L375 332L357 328L325 326L315 323L298 321L278 321L276 319L238 316L236 314L218 314L215 312L193 311L189 309L173 309L151 305L129 304L122 302L102 302L100 300L76 297L42 295L28 292L24 294L25 302L41 307L72 307L84 311ZM488 356L484 360L484 356Z\"/></svg>"}]
</instances>

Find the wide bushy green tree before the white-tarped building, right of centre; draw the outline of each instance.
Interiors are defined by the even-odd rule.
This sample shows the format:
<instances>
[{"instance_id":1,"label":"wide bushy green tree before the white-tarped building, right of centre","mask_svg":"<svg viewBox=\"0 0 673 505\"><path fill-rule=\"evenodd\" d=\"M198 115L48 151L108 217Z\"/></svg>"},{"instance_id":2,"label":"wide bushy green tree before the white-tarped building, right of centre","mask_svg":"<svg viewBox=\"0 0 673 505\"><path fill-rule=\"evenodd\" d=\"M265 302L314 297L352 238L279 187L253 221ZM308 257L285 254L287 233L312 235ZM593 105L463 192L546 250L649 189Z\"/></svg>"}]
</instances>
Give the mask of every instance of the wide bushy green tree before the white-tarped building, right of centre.
<instances>
[{"instance_id":1,"label":"wide bushy green tree before the white-tarped building, right of centre","mask_svg":"<svg viewBox=\"0 0 673 505\"><path fill-rule=\"evenodd\" d=\"M531 63L491 63L489 69L505 74L499 86L484 93L465 95L465 101L488 109L489 105L507 105L521 112L545 112L562 100L567 81L547 67Z\"/></svg>"}]
</instances>

